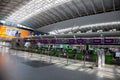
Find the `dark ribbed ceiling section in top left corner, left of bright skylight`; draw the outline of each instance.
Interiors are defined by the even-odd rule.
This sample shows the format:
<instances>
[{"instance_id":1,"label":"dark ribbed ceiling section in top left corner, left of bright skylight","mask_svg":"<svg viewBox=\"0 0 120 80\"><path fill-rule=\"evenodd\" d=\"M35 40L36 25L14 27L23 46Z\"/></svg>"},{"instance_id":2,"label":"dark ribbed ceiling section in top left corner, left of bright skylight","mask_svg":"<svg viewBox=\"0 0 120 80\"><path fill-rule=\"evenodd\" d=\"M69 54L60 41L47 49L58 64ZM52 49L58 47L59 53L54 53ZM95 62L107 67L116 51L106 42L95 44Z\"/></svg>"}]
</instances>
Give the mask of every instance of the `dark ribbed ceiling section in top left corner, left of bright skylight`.
<instances>
[{"instance_id":1,"label":"dark ribbed ceiling section in top left corner, left of bright skylight","mask_svg":"<svg viewBox=\"0 0 120 80\"><path fill-rule=\"evenodd\" d=\"M0 0L0 20L6 19L29 1L30 0Z\"/></svg>"}]
</instances>

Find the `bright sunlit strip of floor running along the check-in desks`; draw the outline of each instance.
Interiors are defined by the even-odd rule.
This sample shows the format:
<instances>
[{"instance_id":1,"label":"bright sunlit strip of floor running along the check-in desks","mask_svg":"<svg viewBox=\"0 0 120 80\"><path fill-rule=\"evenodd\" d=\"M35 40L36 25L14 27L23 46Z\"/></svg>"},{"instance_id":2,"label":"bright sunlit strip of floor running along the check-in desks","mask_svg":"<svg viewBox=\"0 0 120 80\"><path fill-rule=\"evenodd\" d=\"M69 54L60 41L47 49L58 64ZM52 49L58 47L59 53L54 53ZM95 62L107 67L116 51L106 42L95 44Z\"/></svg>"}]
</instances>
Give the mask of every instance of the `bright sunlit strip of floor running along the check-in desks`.
<instances>
[{"instance_id":1,"label":"bright sunlit strip of floor running along the check-in desks","mask_svg":"<svg viewBox=\"0 0 120 80\"><path fill-rule=\"evenodd\" d=\"M17 51L13 51L14 52ZM20 56L20 57L24 57L30 60L42 60L42 61L46 61L49 62L50 61L50 56L47 55L41 55L41 54L36 54L36 55L32 55L31 53L28 52L22 52L22 51L18 51L17 53L15 53L15 55ZM41 57L42 56L42 57ZM82 72L86 72L88 74L95 74L96 76L98 76L98 78L109 78L109 79L115 79L116 76L119 76L116 73L120 73L120 70L118 69L114 69L112 67L105 67L102 69L98 69L97 67L90 69L90 68L83 68L83 61L74 61L69 59L68 65L67 64L67 59L65 58L56 58L56 57L52 57L51 60L52 63L55 63L55 66L57 67L61 67L64 69L68 69L68 70L72 70L72 71L82 71ZM93 63L89 63L86 62L86 67L88 66L92 66ZM114 71L115 70L115 71Z\"/></svg>"}]
</instances>

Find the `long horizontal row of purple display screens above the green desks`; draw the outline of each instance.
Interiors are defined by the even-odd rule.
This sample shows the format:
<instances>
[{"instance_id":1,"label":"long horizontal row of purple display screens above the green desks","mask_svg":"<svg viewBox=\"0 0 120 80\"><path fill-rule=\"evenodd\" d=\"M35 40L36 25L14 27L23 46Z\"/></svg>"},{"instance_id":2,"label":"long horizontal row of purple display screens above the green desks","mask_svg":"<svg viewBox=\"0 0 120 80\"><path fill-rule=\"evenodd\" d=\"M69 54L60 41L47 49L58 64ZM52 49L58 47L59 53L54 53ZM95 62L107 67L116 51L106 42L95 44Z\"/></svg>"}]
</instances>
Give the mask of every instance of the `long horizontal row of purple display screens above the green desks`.
<instances>
[{"instance_id":1,"label":"long horizontal row of purple display screens above the green desks","mask_svg":"<svg viewBox=\"0 0 120 80\"><path fill-rule=\"evenodd\" d=\"M40 42L48 44L120 44L120 40L115 38L106 38L106 39L72 39L72 38L60 38L60 39L25 39L25 42Z\"/></svg>"}]
</instances>

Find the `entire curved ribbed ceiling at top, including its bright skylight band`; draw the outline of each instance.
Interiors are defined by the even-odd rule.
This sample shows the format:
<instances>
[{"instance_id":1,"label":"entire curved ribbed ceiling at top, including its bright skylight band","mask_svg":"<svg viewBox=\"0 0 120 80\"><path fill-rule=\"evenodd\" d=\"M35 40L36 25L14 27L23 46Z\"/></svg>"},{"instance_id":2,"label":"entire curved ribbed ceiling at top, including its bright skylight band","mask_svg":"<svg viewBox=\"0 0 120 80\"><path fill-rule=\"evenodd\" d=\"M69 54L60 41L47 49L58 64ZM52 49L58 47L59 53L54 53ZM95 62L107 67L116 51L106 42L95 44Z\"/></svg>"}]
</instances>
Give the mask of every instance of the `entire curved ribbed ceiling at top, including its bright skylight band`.
<instances>
[{"instance_id":1,"label":"entire curved ribbed ceiling at top, including its bright skylight band","mask_svg":"<svg viewBox=\"0 0 120 80\"><path fill-rule=\"evenodd\" d=\"M0 19L34 29L120 10L120 0L0 0Z\"/></svg>"}]
</instances>

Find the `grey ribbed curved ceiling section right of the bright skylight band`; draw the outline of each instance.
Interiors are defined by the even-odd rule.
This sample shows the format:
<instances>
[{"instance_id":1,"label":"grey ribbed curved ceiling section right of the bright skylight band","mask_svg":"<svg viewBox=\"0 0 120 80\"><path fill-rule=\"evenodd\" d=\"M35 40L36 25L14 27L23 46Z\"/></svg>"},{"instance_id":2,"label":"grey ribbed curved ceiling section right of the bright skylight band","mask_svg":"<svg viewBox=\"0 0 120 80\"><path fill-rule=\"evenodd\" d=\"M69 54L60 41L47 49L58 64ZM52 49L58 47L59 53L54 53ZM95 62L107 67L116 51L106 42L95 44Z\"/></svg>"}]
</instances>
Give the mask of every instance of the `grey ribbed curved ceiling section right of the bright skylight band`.
<instances>
[{"instance_id":1,"label":"grey ribbed curved ceiling section right of the bright skylight band","mask_svg":"<svg viewBox=\"0 0 120 80\"><path fill-rule=\"evenodd\" d=\"M119 9L120 0L70 0L34 15L22 24L37 29L60 21Z\"/></svg>"}]
</instances>

